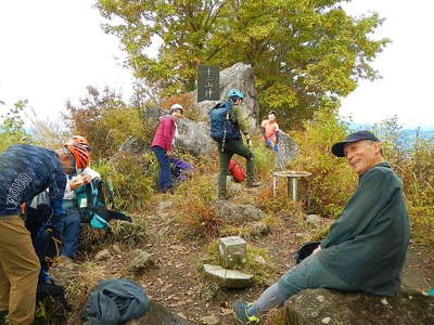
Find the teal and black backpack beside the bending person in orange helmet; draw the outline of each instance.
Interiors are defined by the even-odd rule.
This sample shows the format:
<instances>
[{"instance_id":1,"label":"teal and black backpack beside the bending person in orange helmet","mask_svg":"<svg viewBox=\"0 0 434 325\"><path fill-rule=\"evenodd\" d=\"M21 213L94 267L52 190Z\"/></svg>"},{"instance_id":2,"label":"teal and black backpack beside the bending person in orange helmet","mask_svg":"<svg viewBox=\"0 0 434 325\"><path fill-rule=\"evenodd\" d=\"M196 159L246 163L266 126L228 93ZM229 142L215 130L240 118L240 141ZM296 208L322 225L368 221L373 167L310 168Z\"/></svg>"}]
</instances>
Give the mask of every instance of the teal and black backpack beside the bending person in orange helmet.
<instances>
[{"instance_id":1,"label":"teal and black backpack beside the bending person in orange helmet","mask_svg":"<svg viewBox=\"0 0 434 325\"><path fill-rule=\"evenodd\" d=\"M100 178L94 178L90 183L74 192L77 197L81 222L90 223L95 229L105 229L112 219L132 222L130 217L106 208L113 206L113 191Z\"/></svg>"}]
</instances>

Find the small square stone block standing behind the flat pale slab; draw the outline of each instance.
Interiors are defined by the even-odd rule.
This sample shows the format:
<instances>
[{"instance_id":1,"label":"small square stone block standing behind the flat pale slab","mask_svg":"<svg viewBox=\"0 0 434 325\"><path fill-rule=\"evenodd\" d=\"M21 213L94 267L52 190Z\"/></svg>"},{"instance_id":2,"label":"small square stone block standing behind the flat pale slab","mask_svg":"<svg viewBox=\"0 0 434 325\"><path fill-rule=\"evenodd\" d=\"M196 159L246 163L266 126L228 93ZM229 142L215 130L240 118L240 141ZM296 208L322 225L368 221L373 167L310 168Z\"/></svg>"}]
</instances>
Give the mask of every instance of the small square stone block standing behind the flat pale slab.
<instances>
[{"instance_id":1,"label":"small square stone block standing behind the flat pale slab","mask_svg":"<svg viewBox=\"0 0 434 325\"><path fill-rule=\"evenodd\" d=\"M247 243L239 236L219 238L218 251L226 269L242 266L247 261Z\"/></svg>"}]
</instances>

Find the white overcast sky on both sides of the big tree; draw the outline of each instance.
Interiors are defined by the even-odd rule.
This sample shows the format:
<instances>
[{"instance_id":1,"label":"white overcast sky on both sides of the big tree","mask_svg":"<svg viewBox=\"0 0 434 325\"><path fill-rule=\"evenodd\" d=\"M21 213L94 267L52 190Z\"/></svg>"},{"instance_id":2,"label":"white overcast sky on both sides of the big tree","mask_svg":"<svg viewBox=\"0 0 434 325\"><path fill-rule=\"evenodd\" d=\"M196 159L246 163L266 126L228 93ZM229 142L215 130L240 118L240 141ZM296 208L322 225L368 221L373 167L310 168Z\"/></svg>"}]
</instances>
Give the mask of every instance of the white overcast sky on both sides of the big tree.
<instances>
[{"instance_id":1,"label":"white overcast sky on both sides of the big tree","mask_svg":"<svg viewBox=\"0 0 434 325\"><path fill-rule=\"evenodd\" d=\"M118 39L101 29L103 18L92 3L0 1L0 101L5 107L27 99L39 118L53 121L89 84L110 86L128 99L132 76L122 65L125 54ZM374 11L385 17L372 38L393 43L372 63L383 79L361 81L343 99L342 116L373 123L398 115L405 127L434 129L434 2L353 0L344 8L352 15Z\"/></svg>"}]
</instances>

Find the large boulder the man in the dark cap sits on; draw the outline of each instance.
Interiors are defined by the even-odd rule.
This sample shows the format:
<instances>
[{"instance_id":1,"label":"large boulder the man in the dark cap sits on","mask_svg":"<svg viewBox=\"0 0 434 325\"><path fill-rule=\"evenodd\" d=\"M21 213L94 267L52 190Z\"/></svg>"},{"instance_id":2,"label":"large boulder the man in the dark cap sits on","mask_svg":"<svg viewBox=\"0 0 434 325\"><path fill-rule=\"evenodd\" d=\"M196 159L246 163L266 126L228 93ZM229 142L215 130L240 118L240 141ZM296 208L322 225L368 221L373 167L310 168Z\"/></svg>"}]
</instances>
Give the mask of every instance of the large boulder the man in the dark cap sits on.
<instances>
[{"instance_id":1,"label":"large boulder the man in the dark cap sits on","mask_svg":"<svg viewBox=\"0 0 434 325\"><path fill-rule=\"evenodd\" d=\"M396 297L307 289L291 297L273 318L288 325L429 325L434 297L401 290Z\"/></svg>"}]
</instances>

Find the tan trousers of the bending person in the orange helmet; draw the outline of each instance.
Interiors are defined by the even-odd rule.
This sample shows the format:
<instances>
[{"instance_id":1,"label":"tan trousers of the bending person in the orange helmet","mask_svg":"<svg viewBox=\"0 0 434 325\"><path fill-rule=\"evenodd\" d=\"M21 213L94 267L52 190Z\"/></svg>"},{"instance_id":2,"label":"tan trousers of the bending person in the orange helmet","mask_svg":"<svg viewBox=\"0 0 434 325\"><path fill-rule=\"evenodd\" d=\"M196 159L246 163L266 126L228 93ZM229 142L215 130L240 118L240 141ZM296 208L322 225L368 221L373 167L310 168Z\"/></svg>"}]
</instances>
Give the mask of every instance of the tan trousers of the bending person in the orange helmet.
<instances>
[{"instance_id":1,"label":"tan trousers of the bending person in the orange helmet","mask_svg":"<svg viewBox=\"0 0 434 325\"><path fill-rule=\"evenodd\" d=\"M30 233L18 216L0 217L0 311L7 324L31 324L40 265Z\"/></svg>"}]
</instances>

